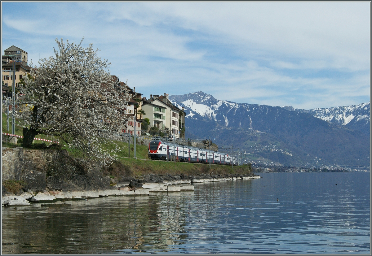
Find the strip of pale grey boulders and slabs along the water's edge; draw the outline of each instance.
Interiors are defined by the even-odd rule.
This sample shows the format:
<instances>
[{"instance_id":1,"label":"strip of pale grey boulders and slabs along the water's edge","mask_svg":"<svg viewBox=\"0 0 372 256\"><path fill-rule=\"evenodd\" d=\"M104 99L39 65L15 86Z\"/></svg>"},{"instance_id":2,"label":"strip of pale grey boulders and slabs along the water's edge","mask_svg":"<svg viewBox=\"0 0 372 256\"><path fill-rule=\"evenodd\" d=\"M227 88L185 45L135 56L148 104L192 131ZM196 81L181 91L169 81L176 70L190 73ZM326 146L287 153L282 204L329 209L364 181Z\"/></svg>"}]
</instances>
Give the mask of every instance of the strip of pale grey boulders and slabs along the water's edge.
<instances>
[{"instance_id":1,"label":"strip of pale grey boulders and slabs along the water's edge","mask_svg":"<svg viewBox=\"0 0 372 256\"><path fill-rule=\"evenodd\" d=\"M109 176L106 176L109 178ZM153 192L182 192L194 191L193 183L218 182L243 179L261 178L259 175L209 175L201 174L198 176L188 175L144 175L140 179L124 177L116 184L112 180L106 189L67 191L66 189L45 189L44 191L34 192L31 189L23 189L17 194L10 194L3 191L2 206L26 206L32 203L54 203L56 206L64 206L61 201L86 200L89 198L108 197L108 196L133 196L150 195ZM49 204L48 204L49 205Z\"/></svg>"}]
</instances>

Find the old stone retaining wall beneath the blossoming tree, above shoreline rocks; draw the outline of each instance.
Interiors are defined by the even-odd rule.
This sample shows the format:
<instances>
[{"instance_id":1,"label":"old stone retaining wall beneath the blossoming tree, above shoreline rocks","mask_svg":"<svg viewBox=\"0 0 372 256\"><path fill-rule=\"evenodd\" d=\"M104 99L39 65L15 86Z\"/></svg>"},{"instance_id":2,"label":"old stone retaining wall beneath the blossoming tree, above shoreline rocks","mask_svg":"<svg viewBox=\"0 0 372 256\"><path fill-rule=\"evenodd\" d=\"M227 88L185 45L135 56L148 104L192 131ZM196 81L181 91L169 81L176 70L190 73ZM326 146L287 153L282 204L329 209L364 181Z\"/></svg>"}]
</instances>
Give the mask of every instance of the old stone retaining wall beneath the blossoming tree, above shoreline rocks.
<instances>
[{"instance_id":1,"label":"old stone retaining wall beneath the blossoming tree, above shoreline rocks","mask_svg":"<svg viewBox=\"0 0 372 256\"><path fill-rule=\"evenodd\" d=\"M99 166L81 166L66 150L2 148L1 167L3 181L25 181L26 191L103 189L110 185L110 177L102 177ZM51 174L47 174L49 167Z\"/></svg>"}]
</instances>

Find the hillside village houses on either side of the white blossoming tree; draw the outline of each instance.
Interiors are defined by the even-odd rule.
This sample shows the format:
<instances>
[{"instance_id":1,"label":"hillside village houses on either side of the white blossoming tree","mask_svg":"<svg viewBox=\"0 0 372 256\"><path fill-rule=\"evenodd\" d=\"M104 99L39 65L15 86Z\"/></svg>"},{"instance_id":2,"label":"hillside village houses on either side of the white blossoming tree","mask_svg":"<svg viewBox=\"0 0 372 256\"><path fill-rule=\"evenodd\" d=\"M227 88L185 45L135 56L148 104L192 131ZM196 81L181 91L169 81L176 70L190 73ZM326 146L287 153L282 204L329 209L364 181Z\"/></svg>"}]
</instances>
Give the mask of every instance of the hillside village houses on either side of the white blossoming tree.
<instances>
[{"instance_id":1,"label":"hillside village houses on either side of the white blossoming tree","mask_svg":"<svg viewBox=\"0 0 372 256\"><path fill-rule=\"evenodd\" d=\"M4 50L2 55L2 92L3 99L12 97L13 77L12 67L15 62L15 91L19 90L23 77L30 74L28 66L28 52L12 45ZM130 88L125 82L119 81L116 75L112 75L113 81L118 87L124 87L129 94L128 106L121 110L125 123L122 124L118 133L130 135L160 135L174 136L176 139L185 138L185 110L174 106L169 95L150 95L150 98L142 97L142 93L136 88Z\"/></svg>"}]
</instances>

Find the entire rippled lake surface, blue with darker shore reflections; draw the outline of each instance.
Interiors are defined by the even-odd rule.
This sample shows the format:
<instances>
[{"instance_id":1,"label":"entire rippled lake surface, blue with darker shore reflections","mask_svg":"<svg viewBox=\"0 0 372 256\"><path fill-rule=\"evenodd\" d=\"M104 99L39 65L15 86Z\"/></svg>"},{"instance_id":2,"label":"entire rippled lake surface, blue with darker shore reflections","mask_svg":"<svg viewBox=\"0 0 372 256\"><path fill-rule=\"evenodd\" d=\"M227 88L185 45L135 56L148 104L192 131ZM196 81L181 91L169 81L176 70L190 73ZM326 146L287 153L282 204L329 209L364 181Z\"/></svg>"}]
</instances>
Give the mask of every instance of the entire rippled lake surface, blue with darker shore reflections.
<instances>
[{"instance_id":1,"label":"entire rippled lake surface, blue with darker shore reflections","mask_svg":"<svg viewBox=\"0 0 372 256\"><path fill-rule=\"evenodd\" d=\"M371 253L370 173L260 175L194 192L3 207L2 253Z\"/></svg>"}]
</instances>

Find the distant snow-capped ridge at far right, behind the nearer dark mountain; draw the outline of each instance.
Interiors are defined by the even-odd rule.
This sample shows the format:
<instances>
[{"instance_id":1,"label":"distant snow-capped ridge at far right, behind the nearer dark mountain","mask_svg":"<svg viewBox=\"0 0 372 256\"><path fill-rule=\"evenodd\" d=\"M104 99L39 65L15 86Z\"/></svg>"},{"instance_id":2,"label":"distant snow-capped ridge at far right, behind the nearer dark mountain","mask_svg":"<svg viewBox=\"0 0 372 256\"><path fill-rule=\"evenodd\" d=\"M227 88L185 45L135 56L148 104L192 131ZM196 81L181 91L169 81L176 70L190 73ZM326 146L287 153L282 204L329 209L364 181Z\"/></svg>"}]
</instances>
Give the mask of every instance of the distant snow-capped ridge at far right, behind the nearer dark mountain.
<instances>
[{"instance_id":1,"label":"distant snow-capped ridge at far right, behind the nearer dark mountain","mask_svg":"<svg viewBox=\"0 0 372 256\"><path fill-rule=\"evenodd\" d=\"M371 123L370 102L352 106L314 108L310 110L283 106L286 110L308 113L330 123L344 125L353 130L369 133Z\"/></svg>"}]
</instances>

